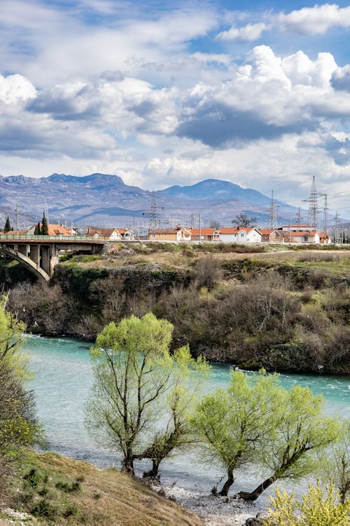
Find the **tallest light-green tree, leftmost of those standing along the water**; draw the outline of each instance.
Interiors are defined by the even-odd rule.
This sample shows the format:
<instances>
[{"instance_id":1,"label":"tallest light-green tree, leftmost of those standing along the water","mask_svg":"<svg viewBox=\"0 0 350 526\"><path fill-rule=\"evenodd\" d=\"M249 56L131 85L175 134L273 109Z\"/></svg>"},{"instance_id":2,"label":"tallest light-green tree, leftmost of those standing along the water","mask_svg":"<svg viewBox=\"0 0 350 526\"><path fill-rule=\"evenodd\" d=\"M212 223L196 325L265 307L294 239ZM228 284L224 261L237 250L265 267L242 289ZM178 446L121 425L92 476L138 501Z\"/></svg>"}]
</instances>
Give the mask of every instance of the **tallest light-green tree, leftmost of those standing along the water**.
<instances>
[{"instance_id":1,"label":"tallest light-green tree, leftmost of those standing along the water","mask_svg":"<svg viewBox=\"0 0 350 526\"><path fill-rule=\"evenodd\" d=\"M91 349L94 385L85 422L98 441L122 452L123 471L130 475L141 458L151 458L157 473L187 433L192 395L185 380L190 368L201 369L202 360L190 358L188 348L170 355L172 328L152 313L130 316L109 323Z\"/></svg>"}]
</instances>

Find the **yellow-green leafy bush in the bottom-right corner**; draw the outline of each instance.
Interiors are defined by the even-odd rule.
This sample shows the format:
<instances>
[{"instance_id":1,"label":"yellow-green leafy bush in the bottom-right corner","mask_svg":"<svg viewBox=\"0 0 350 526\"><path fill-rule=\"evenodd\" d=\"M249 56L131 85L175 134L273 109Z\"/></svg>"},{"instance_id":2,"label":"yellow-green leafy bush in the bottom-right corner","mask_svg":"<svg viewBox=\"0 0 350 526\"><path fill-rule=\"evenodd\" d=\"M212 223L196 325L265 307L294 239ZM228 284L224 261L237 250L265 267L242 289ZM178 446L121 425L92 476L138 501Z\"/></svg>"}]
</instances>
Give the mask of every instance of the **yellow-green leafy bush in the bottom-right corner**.
<instances>
[{"instance_id":1,"label":"yellow-green leafy bush in the bottom-right corner","mask_svg":"<svg viewBox=\"0 0 350 526\"><path fill-rule=\"evenodd\" d=\"M349 526L350 501L342 504L333 485L323 491L320 483L309 485L309 492L299 503L293 495L276 490L271 498L269 518L265 526Z\"/></svg>"}]
</instances>

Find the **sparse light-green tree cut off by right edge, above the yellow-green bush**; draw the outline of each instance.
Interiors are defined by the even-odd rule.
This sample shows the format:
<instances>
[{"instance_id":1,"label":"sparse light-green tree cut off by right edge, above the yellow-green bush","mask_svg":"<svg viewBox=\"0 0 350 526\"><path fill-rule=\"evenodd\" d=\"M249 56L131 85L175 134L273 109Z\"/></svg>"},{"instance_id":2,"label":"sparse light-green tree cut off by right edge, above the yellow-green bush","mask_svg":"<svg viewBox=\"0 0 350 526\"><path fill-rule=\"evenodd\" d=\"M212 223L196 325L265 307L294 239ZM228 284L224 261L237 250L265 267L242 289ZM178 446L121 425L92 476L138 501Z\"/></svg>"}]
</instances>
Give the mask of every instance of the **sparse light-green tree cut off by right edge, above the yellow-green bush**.
<instances>
[{"instance_id":1,"label":"sparse light-green tree cut off by right edge, above the yellow-green bush","mask_svg":"<svg viewBox=\"0 0 350 526\"><path fill-rule=\"evenodd\" d=\"M326 450L320 450L321 476L331 480L340 494L342 504L350 494L350 419L341 422L339 438Z\"/></svg>"}]
</instances>

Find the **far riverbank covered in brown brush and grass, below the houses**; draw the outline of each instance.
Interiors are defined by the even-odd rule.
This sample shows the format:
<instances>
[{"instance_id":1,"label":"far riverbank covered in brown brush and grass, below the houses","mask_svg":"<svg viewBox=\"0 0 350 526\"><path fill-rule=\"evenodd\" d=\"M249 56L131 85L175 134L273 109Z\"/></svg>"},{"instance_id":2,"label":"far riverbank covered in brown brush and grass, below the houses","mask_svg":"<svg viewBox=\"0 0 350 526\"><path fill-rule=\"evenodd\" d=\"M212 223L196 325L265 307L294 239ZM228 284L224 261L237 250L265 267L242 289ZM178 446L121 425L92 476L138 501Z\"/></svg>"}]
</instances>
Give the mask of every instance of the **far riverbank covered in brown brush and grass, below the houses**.
<instances>
[{"instance_id":1,"label":"far riverbank covered in brown brush and grass, below the houses","mask_svg":"<svg viewBox=\"0 0 350 526\"><path fill-rule=\"evenodd\" d=\"M110 321L152 311L174 325L173 349L189 345L193 356L244 370L349 374L349 250L136 250L72 257L49 284L18 283L7 308L30 332L89 342Z\"/></svg>"}]
</instances>

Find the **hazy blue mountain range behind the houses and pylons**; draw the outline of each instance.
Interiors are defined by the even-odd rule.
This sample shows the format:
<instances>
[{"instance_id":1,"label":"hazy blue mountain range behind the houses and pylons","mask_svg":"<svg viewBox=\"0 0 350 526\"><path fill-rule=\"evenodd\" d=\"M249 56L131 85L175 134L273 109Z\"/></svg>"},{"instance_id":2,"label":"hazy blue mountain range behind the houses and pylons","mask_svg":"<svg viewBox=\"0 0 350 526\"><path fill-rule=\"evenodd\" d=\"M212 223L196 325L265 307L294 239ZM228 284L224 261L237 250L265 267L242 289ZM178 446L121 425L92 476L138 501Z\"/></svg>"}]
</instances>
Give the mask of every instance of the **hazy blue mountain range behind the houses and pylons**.
<instances>
[{"instance_id":1,"label":"hazy blue mountain range behind the houses and pylons","mask_svg":"<svg viewBox=\"0 0 350 526\"><path fill-rule=\"evenodd\" d=\"M15 227L18 203L19 226L24 229L41 220L48 211L50 223L73 223L77 227L146 226L151 212L152 191L125 184L118 175L93 173L85 177L54 173L49 177L0 176L0 226L6 217ZM202 224L215 220L230 226L238 213L257 218L260 227L268 223L270 198L254 189L216 179L192 186L172 186L155 191L160 225ZM286 203L279 205L279 224L295 222L297 209ZM304 212L304 215L307 212Z\"/></svg>"}]
</instances>

